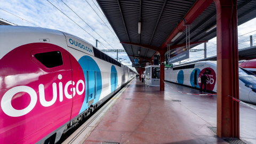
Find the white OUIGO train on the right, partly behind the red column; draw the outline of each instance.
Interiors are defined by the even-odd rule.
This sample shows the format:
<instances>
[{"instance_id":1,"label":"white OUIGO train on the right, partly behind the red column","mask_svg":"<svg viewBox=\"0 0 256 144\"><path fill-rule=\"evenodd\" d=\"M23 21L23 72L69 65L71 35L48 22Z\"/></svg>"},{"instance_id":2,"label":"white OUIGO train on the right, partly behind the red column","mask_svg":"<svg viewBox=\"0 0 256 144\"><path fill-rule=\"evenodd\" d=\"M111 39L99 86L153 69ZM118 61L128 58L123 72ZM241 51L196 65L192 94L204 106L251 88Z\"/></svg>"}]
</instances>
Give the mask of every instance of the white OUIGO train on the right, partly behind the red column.
<instances>
[{"instance_id":1,"label":"white OUIGO train on the right, partly behind the red column","mask_svg":"<svg viewBox=\"0 0 256 144\"><path fill-rule=\"evenodd\" d=\"M186 65L165 68L165 81L199 89L203 73L209 78L206 91L217 92L217 61L199 61ZM256 75L238 67L239 100L256 104Z\"/></svg>"}]
</instances>

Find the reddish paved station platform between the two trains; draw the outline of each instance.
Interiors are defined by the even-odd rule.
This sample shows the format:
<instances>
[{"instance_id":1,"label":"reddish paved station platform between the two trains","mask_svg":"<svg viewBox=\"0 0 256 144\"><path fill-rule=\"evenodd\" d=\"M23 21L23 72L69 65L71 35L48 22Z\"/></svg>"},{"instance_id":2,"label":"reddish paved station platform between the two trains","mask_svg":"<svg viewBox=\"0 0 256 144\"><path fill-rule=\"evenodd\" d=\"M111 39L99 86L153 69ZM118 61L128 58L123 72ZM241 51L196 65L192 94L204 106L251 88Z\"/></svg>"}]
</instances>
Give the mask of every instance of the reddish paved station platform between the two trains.
<instances>
[{"instance_id":1,"label":"reddish paved station platform between the two trains","mask_svg":"<svg viewBox=\"0 0 256 144\"><path fill-rule=\"evenodd\" d=\"M103 113L99 118L91 118L97 121L93 124L89 121L64 143L74 143L74 137L79 134L83 138L75 143L230 142L230 139L219 138L214 133L217 130L216 95L189 95L185 93L200 92L165 83L169 86L165 85L165 91L159 91L159 87L147 87L134 78L125 90L111 99L113 101L109 103L113 106L107 105L109 109L105 111L100 109ZM90 125L91 129L86 131ZM240 142L256 143L256 110L242 104L240 133Z\"/></svg>"}]
</instances>

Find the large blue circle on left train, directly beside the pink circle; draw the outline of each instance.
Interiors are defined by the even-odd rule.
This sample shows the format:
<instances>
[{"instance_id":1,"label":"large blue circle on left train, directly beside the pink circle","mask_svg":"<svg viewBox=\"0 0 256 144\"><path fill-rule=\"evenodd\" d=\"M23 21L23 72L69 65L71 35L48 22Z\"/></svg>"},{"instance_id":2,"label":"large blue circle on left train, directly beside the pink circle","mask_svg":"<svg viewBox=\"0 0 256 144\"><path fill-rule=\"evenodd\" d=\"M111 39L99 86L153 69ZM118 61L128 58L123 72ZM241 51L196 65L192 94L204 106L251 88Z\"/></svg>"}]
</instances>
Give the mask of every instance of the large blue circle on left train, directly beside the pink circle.
<instances>
[{"instance_id":1,"label":"large blue circle on left train, directly beside the pink circle","mask_svg":"<svg viewBox=\"0 0 256 144\"><path fill-rule=\"evenodd\" d=\"M78 63L83 69L85 78L85 98L79 111L80 114L89 108L89 101L93 101L91 105L99 101L102 90L102 78L99 66L91 57L85 55L78 60Z\"/></svg>"}]
</instances>

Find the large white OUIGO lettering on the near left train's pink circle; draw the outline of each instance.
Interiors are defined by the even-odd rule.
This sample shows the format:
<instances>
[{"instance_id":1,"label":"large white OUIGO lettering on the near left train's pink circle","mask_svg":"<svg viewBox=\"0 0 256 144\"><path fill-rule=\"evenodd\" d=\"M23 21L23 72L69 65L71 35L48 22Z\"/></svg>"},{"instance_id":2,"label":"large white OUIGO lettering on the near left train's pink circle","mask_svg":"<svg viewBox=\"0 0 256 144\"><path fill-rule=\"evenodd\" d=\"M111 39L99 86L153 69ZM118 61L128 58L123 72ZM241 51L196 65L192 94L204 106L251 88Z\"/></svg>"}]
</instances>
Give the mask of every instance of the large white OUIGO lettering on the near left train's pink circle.
<instances>
[{"instance_id":1,"label":"large white OUIGO lettering on the near left train's pink circle","mask_svg":"<svg viewBox=\"0 0 256 144\"><path fill-rule=\"evenodd\" d=\"M62 75L58 75L58 79L62 79ZM75 83L74 81L68 81L63 89L63 84L62 82L59 82L59 101L62 102L63 101L63 91L64 91L64 95L67 99L72 99L72 95L73 97L75 97L76 93L78 95L82 95L83 92L85 91L85 83L82 79L80 79L79 81L77 81L77 83ZM74 87L70 89L71 92L73 92L73 94L69 94L68 93L68 86L69 85L73 85ZM80 87L82 85L82 90L79 90L78 87ZM57 84L53 83L52 84L52 90L53 90L53 98L50 101L46 101L45 100L45 92L44 92L44 85L43 84L39 84L38 85L38 89L39 89L39 101L41 103L42 106L44 107L50 107L52 106L56 101L57 101ZM30 96L30 103L26 108L23 109L15 109L12 106L11 100L13 98L13 96L19 92L26 92L29 94ZM33 110L33 108L36 106L36 102L37 102L37 93L36 91L29 87L29 86L15 86L12 87L12 89L8 90L4 95L3 98L1 100L1 107L2 110L4 111L4 113L6 115L12 116L12 117L19 117L19 116L23 116L28 114L31 110Z\"/></svg>"}]
</instances>

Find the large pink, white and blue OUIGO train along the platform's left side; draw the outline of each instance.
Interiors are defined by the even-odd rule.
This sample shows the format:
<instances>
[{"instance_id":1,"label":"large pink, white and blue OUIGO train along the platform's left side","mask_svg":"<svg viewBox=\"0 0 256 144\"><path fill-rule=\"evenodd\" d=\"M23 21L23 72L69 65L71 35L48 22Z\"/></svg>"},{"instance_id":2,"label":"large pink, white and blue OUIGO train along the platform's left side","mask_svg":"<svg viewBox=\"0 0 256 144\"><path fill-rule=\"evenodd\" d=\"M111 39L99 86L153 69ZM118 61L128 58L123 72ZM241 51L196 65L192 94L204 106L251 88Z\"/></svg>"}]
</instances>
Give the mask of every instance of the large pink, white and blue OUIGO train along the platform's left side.
<instances>
[{"instance_id":1,"label":"large pink, white and blue OUIGO train along the platform's left side","mask_svg":"<svg viewBox=\"0 0 256 144\"><path fill-rule=\"evenodd\" d=\"M0 26L0 141L56 143L135 75L77 36Z\"/></svg>"}]
</instances>

